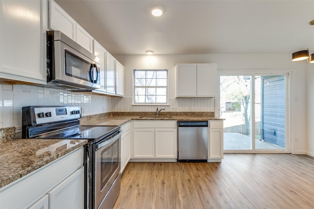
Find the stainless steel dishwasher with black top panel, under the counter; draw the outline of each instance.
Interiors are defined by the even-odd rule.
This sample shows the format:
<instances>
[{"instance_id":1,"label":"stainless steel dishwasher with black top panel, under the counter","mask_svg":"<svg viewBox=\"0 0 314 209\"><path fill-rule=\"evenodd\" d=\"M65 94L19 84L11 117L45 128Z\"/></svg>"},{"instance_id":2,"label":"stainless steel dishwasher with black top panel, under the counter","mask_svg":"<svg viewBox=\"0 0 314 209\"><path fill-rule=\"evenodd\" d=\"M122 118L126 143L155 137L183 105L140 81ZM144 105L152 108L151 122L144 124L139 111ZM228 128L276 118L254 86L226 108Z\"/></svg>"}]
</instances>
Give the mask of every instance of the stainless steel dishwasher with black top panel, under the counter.
<instances>
[{"instance_id":1,"label":"stainless steel dishwasher with black top panel, under the counter","mask_svg":"<svg viewBox=\"0 0 314 209\"><path fill-rule=\"evenodd\" d=\"M178 162L207 162L208 121L178 121Z\"/></svg>"}]
</instances>

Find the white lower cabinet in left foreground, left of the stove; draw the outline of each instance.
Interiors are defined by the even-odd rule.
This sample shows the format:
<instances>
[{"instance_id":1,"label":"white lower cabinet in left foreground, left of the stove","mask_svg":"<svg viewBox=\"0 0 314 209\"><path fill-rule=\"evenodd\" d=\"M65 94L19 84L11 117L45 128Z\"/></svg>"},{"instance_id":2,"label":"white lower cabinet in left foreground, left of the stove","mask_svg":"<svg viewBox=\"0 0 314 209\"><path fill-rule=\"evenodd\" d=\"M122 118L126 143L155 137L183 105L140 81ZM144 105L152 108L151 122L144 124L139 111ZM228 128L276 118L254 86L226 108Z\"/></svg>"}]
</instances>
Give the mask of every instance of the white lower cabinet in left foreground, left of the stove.
<instances>
[{"instance_id":1,"label":"white lower cabinet in left foreground, left of the stove","mask_svg":"<svg viewBox=\"0 0 314 209\"><path fill-rule=\"evenodd\" d=\"M1 188L0 209L83 209L83 159L81 147Z\"/></svg>"}]
</instances>

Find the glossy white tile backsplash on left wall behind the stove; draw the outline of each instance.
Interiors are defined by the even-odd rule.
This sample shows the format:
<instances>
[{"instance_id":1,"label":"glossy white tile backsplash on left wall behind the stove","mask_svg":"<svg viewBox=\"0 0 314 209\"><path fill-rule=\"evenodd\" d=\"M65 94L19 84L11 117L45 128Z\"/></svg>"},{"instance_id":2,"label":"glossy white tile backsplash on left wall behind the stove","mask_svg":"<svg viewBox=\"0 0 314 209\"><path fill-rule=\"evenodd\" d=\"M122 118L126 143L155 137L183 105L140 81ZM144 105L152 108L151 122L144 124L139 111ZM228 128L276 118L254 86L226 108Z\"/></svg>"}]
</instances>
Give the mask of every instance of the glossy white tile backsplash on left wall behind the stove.
<instances>
[{"instance_id":1,"label":"glossy white tile backsplash on left wall behind the stove","mask_svg":"<svg viewBox=\"0 0 314 209\"><path fill-rule=\"evenodd\" d=\"M111 97L29 85L0 84L0 129L22 127L22 107L30 105L78 105L82 116L111 111Z\"/></svg>"}]
</instances>

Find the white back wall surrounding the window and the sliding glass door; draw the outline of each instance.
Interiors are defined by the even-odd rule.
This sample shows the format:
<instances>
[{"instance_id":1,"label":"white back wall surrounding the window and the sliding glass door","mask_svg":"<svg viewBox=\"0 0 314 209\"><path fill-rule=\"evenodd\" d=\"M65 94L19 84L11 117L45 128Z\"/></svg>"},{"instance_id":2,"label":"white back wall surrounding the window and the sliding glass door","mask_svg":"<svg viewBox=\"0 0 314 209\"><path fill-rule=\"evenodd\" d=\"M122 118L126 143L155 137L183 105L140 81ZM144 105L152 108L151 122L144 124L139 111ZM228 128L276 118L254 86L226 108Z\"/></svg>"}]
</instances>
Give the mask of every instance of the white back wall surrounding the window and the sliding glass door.
<instances>
[{"instance_id":1,"label":"white back wall surrounding the window and the sliding glass door","mask_svg":"<svg viewBox=\"0 0 314 209\"><path fill-rule=\"evenodd\" d=\"M291 54L193 54L193 55L115 55L115 58L124 65L125 75L125 98L112 99L112 109L121 110L122 108L136 109L138 111L156 109L154 107L131 106L132 97L132 70L133 69L168 69L169 70L169 97L171 103L178 105L178 101L184 104L181 109L193 111L200 109L199 104L194 101L194 106L188 106L188 99L176 99L175 97L175 65L178 63L217 63L219 70L253 70L259 72L290 72L291 91L289 105L291 106L291 124L289 128L291 138L291 150L294 154L306 153L306 97L305 97L305 67L306 62L291 62ZM313 74L314 76L314 74ZM295 99L297 98L297 99ZM128 103L121 102L128 100ZM210 99L206 107L214 110L214 99ZM183 102L184 101L184 102ZM121 104L126 106L122 107ZM196 105L195 105L196 104ZM116 108L119 106L118 108ZM171 111L172 104L169 109ZM196 106L196 107L195 107ZM202 109L202 108L201 108ZM204 110L205 111L205 110ZM314 123L314 121L313 121ZM312 134L313 135L313 134ZM298 139L296 142L295 139ZM314 151L314 143L312 144Z\"/></svg>"}]
</instances>

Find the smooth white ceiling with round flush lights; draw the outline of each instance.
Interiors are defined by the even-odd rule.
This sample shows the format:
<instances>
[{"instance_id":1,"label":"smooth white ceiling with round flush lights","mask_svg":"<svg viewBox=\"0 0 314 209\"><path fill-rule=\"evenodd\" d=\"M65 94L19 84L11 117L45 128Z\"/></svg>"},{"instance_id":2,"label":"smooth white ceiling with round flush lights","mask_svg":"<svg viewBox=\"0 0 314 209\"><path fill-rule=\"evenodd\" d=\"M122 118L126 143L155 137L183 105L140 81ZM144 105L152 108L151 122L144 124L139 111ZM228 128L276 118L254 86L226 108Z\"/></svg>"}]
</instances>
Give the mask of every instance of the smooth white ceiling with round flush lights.
<instances>
[{"instance_id":1,"label":"smooth white ceiling with round flush lights","mask_svg":"<svg viewBox=\"0 0 314 209\"><path fill-rule=\"evenodd\" d=\"M314 53L314 0L56 2L111 54Z\"/></svg>"}]
</instances>

